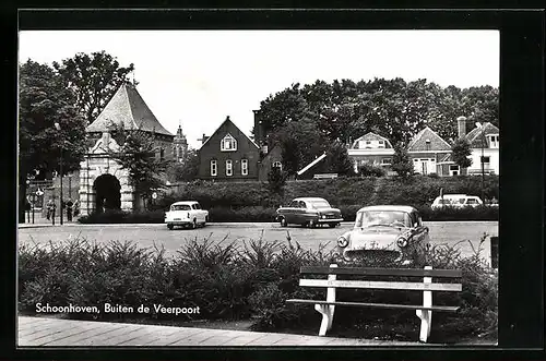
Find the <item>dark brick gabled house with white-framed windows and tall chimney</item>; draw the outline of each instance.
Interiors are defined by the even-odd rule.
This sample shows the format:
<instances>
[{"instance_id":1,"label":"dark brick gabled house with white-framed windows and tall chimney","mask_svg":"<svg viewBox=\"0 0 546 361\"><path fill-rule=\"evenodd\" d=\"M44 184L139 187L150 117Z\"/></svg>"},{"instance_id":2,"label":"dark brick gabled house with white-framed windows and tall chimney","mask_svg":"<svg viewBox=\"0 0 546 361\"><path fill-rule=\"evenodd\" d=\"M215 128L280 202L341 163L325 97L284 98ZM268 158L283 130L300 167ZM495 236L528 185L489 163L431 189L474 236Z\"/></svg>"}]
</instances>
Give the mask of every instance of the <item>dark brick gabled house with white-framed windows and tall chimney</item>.
<instances>
[{"instance_id":1,"label":"dark brick gabled house with white-framed windows and tall chimney","mask_svg":"<svg viewBox=\"0 0 546 361\"><path fill-rule=\"evenodd\" d=\"M261 129L259 112L254 111L254 143L227 117L211 136L203 136L198 178L266 181L271 167L282 168L282 155L278 146L268 151Z\"/></svg>"}]
</instances>

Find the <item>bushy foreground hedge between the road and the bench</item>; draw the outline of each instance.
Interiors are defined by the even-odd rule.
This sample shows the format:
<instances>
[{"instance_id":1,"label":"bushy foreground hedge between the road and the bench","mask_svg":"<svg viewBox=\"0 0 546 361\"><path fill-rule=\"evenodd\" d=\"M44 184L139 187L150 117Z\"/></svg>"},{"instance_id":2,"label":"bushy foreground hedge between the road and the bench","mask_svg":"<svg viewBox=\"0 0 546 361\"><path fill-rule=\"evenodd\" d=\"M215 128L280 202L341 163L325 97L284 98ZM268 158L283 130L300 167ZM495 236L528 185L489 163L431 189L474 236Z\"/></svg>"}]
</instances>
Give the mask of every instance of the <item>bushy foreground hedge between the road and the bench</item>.
<instances>
[{"instance_id":1,"label":"bushy foreground hedge between the road and the bench","mask_svg":"<svg viewBox=\"0 0 546 361\"><path fill-rule=\"evenodd\" d=\"M427 254L434 268L463 272L463 291L435 296L436 304L459 304L454 315L435 315L432 341L462 341L470 336L497 329L498 277L480 258L480 250L461 257L456 249L435 246ZM377 262L376 262L377 261ZM400 267L380 260L360 261L352 266ZM188 320L252 320L257 330L317 332L320 315L312 306L286 304L288 298L319 297L323 290L302 290L299 269L328 265L335 260L324 250L304 250L297 242L250 240L242 244L186 240L179 252L167 257L161 249L142 249L134 243L95 243L72 239L49 246L19 248L19 308L35 314L37 303L51 305L199 306L201 313L168 314L69 314L72 318L123 321L126 318L169 325ZM411 267L423 267L415 263ZM378 302L420 302L420 293L366 292ZM363 294L348 292L347 300ZM349 333L349 334L347 334ZM351 334L353 333L353 334ZM332 335L364 338L415 340L418 320L413 312L340 309Z\"/></svg>"}]
</instances>

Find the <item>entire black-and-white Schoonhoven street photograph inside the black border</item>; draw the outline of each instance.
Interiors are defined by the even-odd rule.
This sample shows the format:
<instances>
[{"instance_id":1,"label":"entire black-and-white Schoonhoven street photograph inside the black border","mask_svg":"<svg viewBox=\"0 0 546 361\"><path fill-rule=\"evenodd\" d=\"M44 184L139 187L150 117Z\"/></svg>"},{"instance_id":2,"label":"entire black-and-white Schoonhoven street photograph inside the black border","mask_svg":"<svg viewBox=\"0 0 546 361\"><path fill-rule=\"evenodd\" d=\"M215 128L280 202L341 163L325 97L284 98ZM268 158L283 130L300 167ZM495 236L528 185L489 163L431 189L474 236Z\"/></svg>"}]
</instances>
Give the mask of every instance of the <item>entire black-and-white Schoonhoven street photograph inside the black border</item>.
<instances>
[{"instance_id":1,"label":"entire black-and-white Schoonhoven street photograph inside the black border","mask_svg":"<svg viewBox=\"0 0 546 361\"><path fill-rule=\"evenodd\" d=\"M498 346L499 31L17 47L17 347Z\"/></svg>"}]
</instances>

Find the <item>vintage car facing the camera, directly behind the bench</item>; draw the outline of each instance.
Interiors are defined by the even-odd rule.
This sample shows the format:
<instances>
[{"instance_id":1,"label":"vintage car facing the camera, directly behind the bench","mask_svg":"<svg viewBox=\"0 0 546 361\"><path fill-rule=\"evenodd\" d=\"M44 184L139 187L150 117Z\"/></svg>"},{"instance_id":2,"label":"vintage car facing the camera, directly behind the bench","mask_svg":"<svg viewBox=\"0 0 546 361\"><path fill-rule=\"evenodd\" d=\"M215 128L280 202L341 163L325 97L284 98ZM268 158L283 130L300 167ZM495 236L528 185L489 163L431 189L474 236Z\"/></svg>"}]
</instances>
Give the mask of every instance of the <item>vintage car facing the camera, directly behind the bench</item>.
<instances>
[{"instance_id":1,"label":"vintage car facing the camera, directly behind the bench","mask_svg":"<svg viewBox=\"0 0 546 361\"><path fill-rule=\"evenodd\" d=\"M424 261L430 243L428 227L414 207L376 205L356 213L353 230L337 239L337 251L346 261L359 257L411 263Z\"/></svg>"}]
</instances>

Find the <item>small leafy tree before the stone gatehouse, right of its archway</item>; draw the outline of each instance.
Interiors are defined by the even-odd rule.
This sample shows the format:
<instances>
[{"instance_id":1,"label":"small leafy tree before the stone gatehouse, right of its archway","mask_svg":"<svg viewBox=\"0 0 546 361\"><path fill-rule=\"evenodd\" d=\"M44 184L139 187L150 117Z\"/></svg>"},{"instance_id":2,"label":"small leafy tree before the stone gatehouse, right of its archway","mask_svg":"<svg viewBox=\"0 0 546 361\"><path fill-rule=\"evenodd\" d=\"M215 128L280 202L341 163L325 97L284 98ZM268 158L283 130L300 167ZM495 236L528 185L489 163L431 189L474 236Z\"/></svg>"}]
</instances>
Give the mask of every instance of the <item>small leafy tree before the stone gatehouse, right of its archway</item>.
<instances>
[{"instance_id":1,"label":"small leafy tree before the stone gatehouse, right of its archway","mask_svg":"<svg viewBox=\"0 0 546 361\"><path fill-rule=\"evenodd\" d=\"M129 171L129 182L136 194L150 200L154 190L165 184L165 171L171 165L170 160L158 157L158 153L154 135L135 130L128 131L121 149L110 155Z\"/></svg>"}]
</instances>

